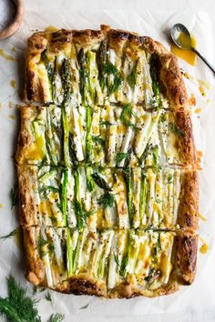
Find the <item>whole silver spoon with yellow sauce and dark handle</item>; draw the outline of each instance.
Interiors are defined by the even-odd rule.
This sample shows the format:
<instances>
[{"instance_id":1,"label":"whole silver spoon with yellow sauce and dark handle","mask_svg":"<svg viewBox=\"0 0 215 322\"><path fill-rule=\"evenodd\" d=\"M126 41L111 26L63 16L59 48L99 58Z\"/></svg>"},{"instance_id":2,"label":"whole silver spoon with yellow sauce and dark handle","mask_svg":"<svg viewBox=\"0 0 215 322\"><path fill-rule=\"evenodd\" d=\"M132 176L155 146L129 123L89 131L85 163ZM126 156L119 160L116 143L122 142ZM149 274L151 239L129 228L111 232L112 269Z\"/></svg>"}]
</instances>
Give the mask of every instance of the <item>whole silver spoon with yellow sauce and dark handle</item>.
<instances>
[{"instance_id":1,"label":"whole silver spoon with yellow sauce and dark handle","mask_svg":"<svg viewBox=\"0 0 215 322\"><path fill-rule=\"evenodd\" d=\"M179 35L181 35L181 34L184 34L186 37L185 44L182 44L182 42L179 39ZM192 46L191 36L189 34L189 30L186 28L185 25L182 25L182 24L173 25L170 30L170 35L171 35L171 38L172 38L173 42L175 43L175 45L178 45L178 47L181 49L191 50L196 55L199 55L199 57L203 60L203 62L206 65L208 65L210 67L211 71L215 74L215 68L212 65L210 65L208 60L205 59L205 57L203 57L203 55L200 55L199 51L196 50L196 48L194 48Z\"/></svg>"}]
</instances>

